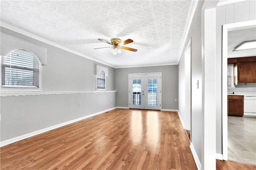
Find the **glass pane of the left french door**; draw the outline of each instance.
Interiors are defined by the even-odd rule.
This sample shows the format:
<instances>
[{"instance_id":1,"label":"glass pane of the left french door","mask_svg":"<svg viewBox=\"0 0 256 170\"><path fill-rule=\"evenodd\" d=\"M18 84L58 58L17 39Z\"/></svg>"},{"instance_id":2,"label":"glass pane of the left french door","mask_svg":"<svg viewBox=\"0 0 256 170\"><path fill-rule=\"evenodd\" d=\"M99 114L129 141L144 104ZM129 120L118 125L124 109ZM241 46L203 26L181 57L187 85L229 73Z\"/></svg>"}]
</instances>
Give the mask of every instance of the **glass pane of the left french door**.
<instances>
[{"instance_id":1,"label":"glass pane of the left french door","mask_svg":"<svg viewBox=\"0 0 256 170\"><path fill-rule=\"evenodd\" d=\"M132 105L141 105L141 79L132 80Z\"/></svg>"}]
</instances>

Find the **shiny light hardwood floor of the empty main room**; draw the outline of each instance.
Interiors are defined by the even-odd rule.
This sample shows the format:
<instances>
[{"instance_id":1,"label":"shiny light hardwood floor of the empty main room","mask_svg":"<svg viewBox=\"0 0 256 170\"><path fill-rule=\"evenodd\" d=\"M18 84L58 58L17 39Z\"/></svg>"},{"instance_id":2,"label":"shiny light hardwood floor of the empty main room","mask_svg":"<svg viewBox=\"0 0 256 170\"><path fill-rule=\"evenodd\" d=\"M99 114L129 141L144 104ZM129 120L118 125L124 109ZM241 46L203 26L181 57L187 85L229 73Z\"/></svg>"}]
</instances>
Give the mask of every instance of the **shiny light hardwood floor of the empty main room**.
<instances>
[{"instance_id":1,"label":"shiny light hardwood floor of the empty main room","mask_svg":"<svg viewBox=\"0 0 256 170\"><path fill-rule=\"evenodd\" d=\"M177 112L114 109L1 147L1 169L196 170Z\"/></svg>"}]
</instances>

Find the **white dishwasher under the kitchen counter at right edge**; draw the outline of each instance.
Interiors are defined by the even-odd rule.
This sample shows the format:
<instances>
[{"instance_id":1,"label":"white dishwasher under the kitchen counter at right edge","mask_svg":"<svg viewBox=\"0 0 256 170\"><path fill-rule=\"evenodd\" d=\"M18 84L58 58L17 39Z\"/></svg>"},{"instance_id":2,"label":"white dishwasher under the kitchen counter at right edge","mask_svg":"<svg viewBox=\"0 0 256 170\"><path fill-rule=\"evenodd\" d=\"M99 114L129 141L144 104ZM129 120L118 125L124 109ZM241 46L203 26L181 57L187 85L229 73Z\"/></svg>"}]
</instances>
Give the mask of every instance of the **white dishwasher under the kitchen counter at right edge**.
<instances>
[{"instance_id":1,"label":"white dishwasher under the kitchen counter at right edge","mask_svg":"<svg viewBox=\"0 0 256 170\"><path fill-rule=\"evenodd\" d=\"M244 96L244 116L256 117L256 96Z\"/></svg>"}]
</instances>

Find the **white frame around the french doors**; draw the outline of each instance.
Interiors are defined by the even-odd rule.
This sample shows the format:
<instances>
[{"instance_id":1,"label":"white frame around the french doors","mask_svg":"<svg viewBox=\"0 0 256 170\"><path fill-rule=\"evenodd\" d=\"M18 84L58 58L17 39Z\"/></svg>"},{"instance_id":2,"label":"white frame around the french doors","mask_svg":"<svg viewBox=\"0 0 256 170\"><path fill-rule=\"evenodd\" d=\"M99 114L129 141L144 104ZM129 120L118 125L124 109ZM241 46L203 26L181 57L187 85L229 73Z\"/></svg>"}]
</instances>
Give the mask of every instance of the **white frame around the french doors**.
<instances>
[{"instance_id":1,"label":"white frame around the french doors","mask_svg":"<svg viewBox=\"0 0 256 170\"><path fill-rule=\"evenodd\" d=\"M157 84L158 84L158 104L159 104L159 107L158 109L161 110L162 109L162 72L148 72L148 73L133 73L133 74L128 74L128 106L129 106L129 109L130 109L130 92L132 92L132 90L130 89L130 77L133 76L133 75L146 75L146 74L159 74L160 75L160 79L158 80ZM147 94L147 92L145 93ZM139 108L138 108L139 109ZM148 109L148 107L146 108L146 102L145 102L145 109ZM153 107L151 109L154 109ZM157 110L158 110L157 109Z\"/></svg>"}]
</instances>

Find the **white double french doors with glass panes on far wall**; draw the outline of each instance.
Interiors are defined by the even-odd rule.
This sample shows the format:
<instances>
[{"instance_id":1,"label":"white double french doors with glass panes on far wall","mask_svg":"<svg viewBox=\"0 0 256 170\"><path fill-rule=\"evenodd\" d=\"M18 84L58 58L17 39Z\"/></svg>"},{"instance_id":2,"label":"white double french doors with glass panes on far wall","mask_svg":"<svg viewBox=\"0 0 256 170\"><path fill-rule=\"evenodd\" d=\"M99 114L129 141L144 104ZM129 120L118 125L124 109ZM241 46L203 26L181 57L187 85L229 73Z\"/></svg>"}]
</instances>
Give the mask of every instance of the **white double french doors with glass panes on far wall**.
<instances>
[{"instance_id":1,"label":"white double french doors with glass panes on far wall","mask_svg":"<svg viewBox=\"0 0 256 170\"><path fill-rule=\"evenodd\" d=\"M161 73L129 74L129 108L161 109Z\"/></svg>"}]
</instances>

